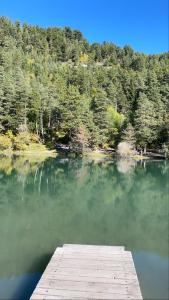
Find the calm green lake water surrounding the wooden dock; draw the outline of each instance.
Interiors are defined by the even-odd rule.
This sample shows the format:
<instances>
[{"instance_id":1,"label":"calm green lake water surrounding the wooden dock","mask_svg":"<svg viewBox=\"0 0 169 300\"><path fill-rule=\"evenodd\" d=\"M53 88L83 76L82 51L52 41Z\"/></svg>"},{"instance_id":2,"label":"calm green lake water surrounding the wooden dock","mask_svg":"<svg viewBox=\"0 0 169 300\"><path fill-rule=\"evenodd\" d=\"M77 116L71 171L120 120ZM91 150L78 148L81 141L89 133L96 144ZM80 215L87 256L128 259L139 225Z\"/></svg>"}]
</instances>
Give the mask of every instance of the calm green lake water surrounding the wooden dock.
<instances>
[{"instance_id":1,"label":"calm green lake water surrounding the wooden dock","mask_svg":"<svg viewBox=\"0 0 169 300\"><path fill-rule=\"evenodd\" d=\"M0 158L0 299L29 299L64 243L124 245L169 299L169 163Z\"/></svg>"}]
</instances>

